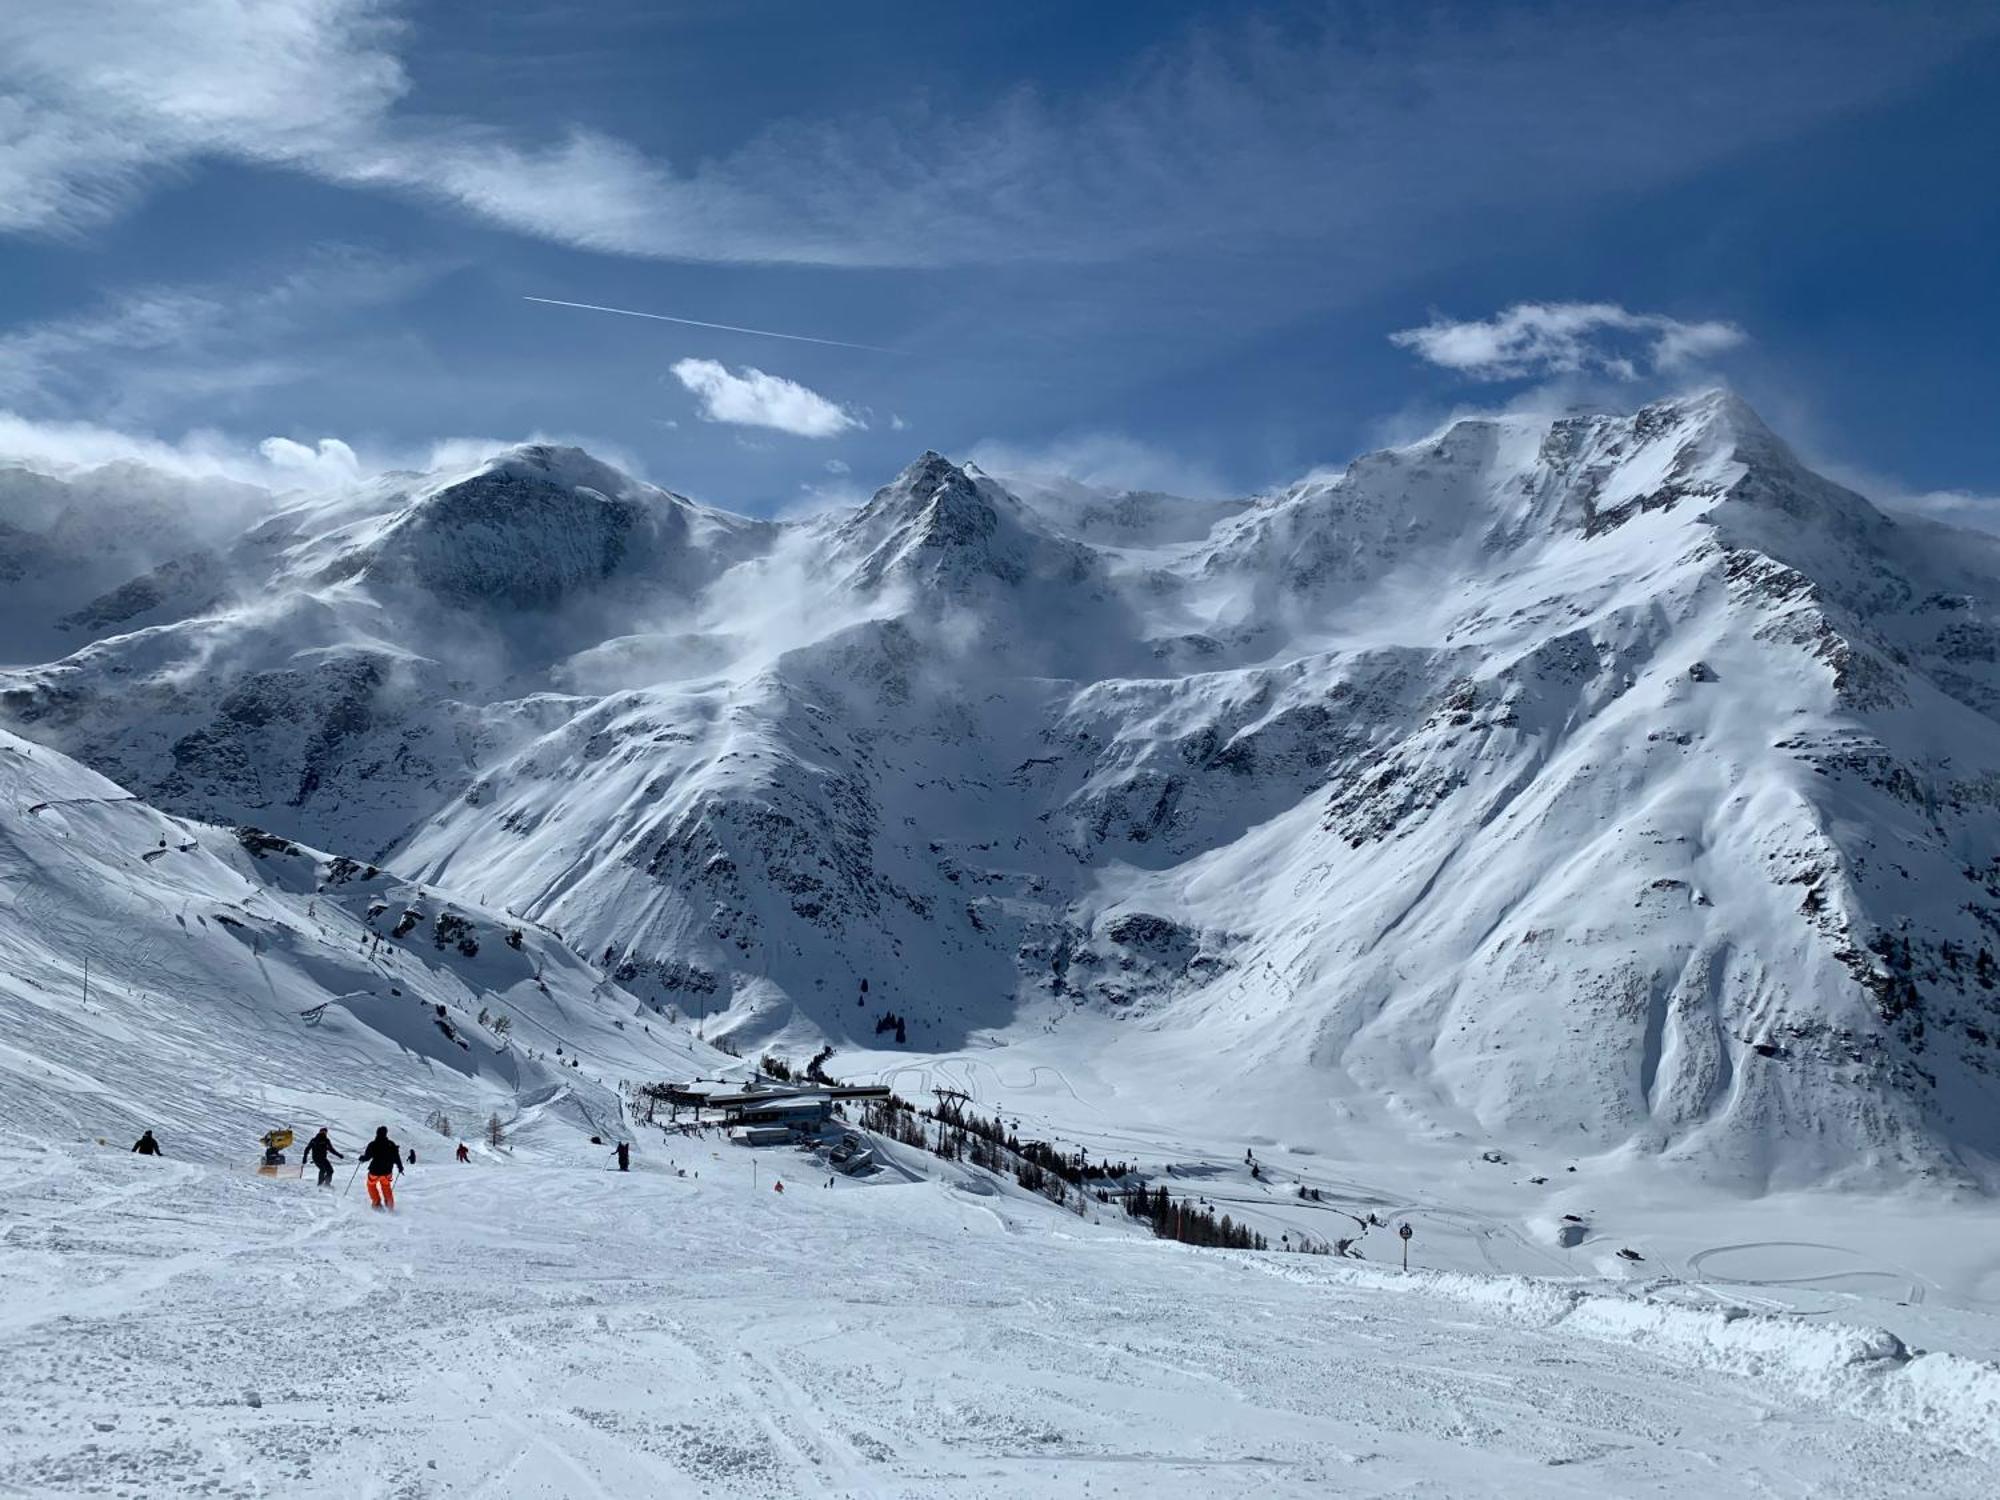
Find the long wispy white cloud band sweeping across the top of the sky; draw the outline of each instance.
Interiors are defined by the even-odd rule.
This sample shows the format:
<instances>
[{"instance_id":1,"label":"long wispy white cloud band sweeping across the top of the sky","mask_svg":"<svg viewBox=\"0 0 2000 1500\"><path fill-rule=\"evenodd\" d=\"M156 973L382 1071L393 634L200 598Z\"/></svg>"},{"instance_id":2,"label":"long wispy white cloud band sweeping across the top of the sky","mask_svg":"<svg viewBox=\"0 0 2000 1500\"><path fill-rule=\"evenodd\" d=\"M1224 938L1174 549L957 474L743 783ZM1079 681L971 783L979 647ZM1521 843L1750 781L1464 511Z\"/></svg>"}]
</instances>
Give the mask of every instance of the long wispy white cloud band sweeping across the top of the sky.
<instances>
[{"instance_id":1,"label":"long wispy white cloud band sweeping across the top of the sky","mask_svg":"<svg viewBox=\"0 0 2000 1500\"><path fill-rule=\"evenodd\" d=\"M12 0L0 230L80 232L220 158L636 256L1108 260L1254 230L1394 258L1456 214L1632 190L1810 128L1996 24L1858 0L1328 6L1188 30L1072 100L914 92L688 168L662 142L412 108L396 0ZM1690 110L1690 78L1730 108Z\"/></svg>"}]
</instances>

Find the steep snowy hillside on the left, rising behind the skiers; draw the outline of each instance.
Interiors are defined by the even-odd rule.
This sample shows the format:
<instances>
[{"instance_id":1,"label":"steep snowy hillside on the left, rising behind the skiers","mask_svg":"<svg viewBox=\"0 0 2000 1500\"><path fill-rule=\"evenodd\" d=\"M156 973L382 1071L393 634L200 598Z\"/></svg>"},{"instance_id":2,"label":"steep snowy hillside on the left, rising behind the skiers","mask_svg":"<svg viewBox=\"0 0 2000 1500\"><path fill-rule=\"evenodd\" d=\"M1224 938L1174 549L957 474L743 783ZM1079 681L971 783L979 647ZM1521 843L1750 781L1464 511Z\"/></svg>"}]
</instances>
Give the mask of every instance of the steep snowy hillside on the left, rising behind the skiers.
<instances>
[{"instance_id":1,"label":"steep snowy hillside on the left, rising behind the skiers","mask_svg":"<svg viewBox=\"0 0 2000 1500\"><path fill-rule=\"evenodd\" d=\"M492 1114L614 1134L622 1078L730 1064L534 924L156 812L8 734L0 1020L8 1130L122 1148L152 1128L194 1160L316 1124L350 1144L394 1124L442 1158L438 1112L468 1140Z\"/></svg>"}]
</instances>

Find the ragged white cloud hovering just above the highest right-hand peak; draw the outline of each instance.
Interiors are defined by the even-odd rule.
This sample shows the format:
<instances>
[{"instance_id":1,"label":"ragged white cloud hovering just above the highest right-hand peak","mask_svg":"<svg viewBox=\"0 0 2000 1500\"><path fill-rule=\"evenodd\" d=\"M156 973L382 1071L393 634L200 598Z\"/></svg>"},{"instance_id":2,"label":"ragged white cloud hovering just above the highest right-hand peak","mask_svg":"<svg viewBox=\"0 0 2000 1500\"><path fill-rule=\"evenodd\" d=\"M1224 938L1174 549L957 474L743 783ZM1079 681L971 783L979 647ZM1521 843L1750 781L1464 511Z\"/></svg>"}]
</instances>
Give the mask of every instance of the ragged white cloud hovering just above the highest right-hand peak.
<instances>
[{"instance_id":1,"label":"ragged white cloud hovering just above the highest right-hand peak","mask_svg":"<svg viewBox=\"0 0 2000 1500\"><path fill-rule=\"evenodd\" d=\"M1390 334L1418 358L1474 380L1520 380L1600 370L1620 380L1674 374L1736 348L1728 322L1682 322L1616 302L1516 302L1492 318L1432 318Z\"/></svg>"}]
</instances>

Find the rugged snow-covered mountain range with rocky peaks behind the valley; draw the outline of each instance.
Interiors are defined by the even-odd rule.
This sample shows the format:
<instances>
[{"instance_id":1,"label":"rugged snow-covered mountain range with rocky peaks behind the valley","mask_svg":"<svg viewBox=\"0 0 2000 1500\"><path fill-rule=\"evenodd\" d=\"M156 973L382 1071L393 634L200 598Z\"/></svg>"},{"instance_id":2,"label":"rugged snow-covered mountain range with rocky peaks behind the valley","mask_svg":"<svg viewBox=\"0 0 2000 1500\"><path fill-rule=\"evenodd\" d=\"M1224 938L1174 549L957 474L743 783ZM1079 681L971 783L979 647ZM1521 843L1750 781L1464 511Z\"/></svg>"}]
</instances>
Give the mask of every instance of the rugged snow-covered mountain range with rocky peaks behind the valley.
<instances>
[{"instance_id":1,"label":"rugged snow-covered mountain range with rocky peaks behind the valley","mask_svg":"<svg viewBox=\"0 0 2000 1500\"><path fill-rule=\"evenodd\" d=\"M520 448L270 498L64 624L20 734L746 1040L1088 1014L1102 1072L1306 1136L2000 1158L2000 546L1728 394L1222 504L924 454L792 524Z\"/></svg>"}]
</instances>

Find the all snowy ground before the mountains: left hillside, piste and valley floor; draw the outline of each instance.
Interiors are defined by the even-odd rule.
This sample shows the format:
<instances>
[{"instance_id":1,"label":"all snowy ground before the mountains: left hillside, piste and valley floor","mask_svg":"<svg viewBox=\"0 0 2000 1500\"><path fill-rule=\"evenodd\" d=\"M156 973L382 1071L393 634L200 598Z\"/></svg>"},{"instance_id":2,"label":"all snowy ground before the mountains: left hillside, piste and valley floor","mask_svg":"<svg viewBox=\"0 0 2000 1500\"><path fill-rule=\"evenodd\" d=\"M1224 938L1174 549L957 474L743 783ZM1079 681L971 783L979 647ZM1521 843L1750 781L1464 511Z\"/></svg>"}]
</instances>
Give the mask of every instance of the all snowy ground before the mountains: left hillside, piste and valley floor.
<instances>
[{"instance_id":1,"label":"all snowy ground before the mountains: left hillside, piste and valley floor","mask_svg":"<svg viewBox=\"0 0 2000 1500\"><path fill-rule=\"evenodd\" d=\"M1362 1118L1338 1154L1294 1148L1226 1096L1066 1066L1074 1036L834 1060L916 1102L960 1088L1274 1242L1346 1218L1364 1258L1196 1250L886 1142L848 1180L648 1126L628 1084L748 1064L504 910L162 814L42 746L0 744L0 832L6 1494L1988 1496L2000 1474L1980 1200L1668 1194L1640 1162L1492 1162ZM262 1130L318 1124L334 1188L296 1156L254 1170ZM418 1148L394 1216L350 1178L376 1124ZM130 1154L148 1126L166 1156Z\"/></svg>"}]
</instances>

